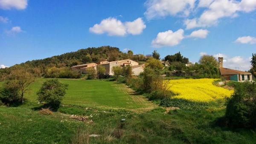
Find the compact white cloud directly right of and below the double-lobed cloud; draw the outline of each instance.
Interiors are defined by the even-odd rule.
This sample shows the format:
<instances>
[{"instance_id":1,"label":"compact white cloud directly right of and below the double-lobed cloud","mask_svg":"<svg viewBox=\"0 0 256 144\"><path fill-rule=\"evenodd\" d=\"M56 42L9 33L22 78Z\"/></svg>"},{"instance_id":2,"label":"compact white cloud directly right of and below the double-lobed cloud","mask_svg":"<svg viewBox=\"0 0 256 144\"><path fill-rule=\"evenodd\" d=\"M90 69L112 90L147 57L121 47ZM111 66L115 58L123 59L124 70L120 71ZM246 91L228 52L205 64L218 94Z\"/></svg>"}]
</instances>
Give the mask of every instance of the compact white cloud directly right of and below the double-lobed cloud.
<instances>
[{"instance_id":1,"label":"compact white cloud directly right of and below the double-lobed cloud","mask_svg":"<svg viewBox=\"0 0 256 144\"><path fill-rule=\"evenodd\" d=\"M184 30L179 29L176 32L171 30L166 32L159 32L157 38L152 41L153 47L163 47L163 46L175 46L180 43L184 38Z\"/></svg>"}]
</instances>

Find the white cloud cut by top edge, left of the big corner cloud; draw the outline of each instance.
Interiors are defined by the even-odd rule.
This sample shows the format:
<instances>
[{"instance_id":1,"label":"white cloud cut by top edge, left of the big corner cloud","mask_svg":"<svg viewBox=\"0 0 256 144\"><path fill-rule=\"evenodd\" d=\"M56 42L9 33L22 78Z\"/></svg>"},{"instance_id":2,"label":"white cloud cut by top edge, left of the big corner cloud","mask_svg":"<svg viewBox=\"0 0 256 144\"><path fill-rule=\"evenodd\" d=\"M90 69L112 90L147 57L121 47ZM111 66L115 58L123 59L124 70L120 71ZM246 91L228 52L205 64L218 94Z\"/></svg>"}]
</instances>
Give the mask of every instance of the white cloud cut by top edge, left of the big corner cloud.
<instances>
[{"instance_id":1,"label":"white cloud cut by top edge, left of the big corner cloud","mask_svg":"<svg viewBox=\"0 0 256 144\"><path fill-rule=\"evenodd\" d=\"M147 0L145 2L147 11L144 15L148 20L177 14L188 16L194 4L195 0Z\"/></svg>"}]
</instances>

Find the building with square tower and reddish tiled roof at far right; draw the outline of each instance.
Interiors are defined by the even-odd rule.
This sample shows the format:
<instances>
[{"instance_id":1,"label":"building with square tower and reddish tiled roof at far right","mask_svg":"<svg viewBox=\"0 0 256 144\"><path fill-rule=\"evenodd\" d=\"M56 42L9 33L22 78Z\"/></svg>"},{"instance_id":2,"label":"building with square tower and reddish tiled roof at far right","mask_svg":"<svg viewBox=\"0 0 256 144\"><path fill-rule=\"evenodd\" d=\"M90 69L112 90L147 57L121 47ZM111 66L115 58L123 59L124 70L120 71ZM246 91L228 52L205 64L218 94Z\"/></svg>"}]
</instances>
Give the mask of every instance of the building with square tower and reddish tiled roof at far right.
<instances>
[{"instance_id":1,"label":"building with square tower and reddish tiled roof at far right","mask_svg":"<svg viewBox=\"0 0 256 144\"><path fill-rule=\"evenodd\" d=\"M227 81L252 81L253 77L250 72L243 72L235 69L228 69L223 67L223 58L218 58L219 71L221 77Z\"/></svg>"}]
</instances>

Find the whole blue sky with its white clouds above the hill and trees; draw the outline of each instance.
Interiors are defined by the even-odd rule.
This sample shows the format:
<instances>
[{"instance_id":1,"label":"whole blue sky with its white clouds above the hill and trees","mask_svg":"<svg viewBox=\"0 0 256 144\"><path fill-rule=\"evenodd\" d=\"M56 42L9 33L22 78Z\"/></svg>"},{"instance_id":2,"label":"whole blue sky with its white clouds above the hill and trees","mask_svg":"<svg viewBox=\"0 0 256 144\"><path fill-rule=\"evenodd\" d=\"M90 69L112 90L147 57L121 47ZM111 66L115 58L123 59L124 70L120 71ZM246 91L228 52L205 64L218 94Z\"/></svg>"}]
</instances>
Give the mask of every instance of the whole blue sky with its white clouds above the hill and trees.
<instances>
[{"instance_id":1,"label":"whole blue sky with its white clouds above the hill and trees","mask_svg":"<svg viewBox=\"0 0 256 144\"><path fill-rule=\"evenodd\" d=\"M0 0L1 67L107 45L248 70L256 0Z\"/></svg>"}]
</instances>

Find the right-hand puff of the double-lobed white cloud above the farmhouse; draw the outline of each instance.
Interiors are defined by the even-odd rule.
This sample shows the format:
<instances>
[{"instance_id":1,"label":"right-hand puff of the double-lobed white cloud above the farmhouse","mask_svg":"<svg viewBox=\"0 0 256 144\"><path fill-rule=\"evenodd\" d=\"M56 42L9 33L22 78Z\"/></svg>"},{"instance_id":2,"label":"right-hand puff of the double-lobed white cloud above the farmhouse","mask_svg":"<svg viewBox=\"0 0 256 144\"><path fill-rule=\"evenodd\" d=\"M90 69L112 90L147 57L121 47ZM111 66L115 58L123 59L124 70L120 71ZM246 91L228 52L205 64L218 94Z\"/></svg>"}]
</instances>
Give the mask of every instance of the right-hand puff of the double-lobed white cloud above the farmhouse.
<instances>
[{"instance_id":1,"label":"right-hand puff of the double-lobed white cloud above the farmhouse","mask_svg":"<svg viewBox=\"0 0 256 144\"><path fill-rule=\"evenodd\" d=\"M139 17L132 22L125 22L127 32L132 35L140 35L143 32L143 29L146 28L143 20Z\"/></svg>"}]
</instances>

